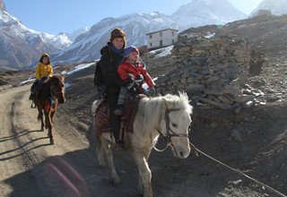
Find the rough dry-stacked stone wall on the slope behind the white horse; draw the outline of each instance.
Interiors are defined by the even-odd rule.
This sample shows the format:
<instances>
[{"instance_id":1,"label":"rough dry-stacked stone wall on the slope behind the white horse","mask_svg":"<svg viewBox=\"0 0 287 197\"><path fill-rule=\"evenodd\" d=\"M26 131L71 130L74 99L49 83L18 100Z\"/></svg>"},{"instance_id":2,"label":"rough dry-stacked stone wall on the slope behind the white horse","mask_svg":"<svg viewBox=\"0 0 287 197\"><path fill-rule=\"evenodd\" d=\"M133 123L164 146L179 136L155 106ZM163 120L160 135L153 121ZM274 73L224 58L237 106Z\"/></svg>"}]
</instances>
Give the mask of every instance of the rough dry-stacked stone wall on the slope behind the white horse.
<instances>
[{"instance_id":1,"label":"rough dry-stacked stone wall on the slope behind the white horse","mask_svg":"<svg viewBox=\"0 0 287 197\"><path fill-rule=\"evenodd\" d=\"M173 70L158 77L161 94L185 90L197 105L230 109L255 99L260 92L244 93L252 49L233 35L179 38L171 51ZM252 66L252 65L251 65Z\"/></svg>"}]
</instances>

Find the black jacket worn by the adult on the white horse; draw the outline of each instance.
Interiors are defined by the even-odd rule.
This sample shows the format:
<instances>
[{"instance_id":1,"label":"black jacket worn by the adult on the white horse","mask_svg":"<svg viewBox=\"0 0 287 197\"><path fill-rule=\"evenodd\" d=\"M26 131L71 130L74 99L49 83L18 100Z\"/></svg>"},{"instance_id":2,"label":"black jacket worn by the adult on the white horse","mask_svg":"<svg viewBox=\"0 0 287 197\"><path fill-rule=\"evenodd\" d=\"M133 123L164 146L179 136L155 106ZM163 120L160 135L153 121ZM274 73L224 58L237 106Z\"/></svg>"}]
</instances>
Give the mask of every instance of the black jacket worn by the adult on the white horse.
<instances>
[{"instance_id":1,"label":"black jacket worn by the adult on the white horse","mask_svg":"<svg viewBox=\"0 0 287 197\"><path fill-rule=\"evenodd\" d=\"M121 80L117 73L117 67L122 63L123 56L110 51L108 45L100 49L100 72L103 85L107 86L107 88L110 86L124 86L124 81Z\"/></svg>"}]
</instances>

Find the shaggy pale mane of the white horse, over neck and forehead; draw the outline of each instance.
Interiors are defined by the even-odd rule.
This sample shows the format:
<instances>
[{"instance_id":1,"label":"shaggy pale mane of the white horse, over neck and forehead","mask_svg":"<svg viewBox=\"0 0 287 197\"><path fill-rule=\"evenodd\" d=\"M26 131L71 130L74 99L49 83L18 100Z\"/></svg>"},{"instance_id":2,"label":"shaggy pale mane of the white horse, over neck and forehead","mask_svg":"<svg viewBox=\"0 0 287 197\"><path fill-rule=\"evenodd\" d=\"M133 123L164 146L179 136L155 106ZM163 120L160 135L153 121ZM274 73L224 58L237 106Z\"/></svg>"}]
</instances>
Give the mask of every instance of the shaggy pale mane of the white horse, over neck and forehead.
<instances>
[{"instance_id":1,"label":"shaggy pale mane of the white horse, over neck and forehead","mask_svg":"<svg viewBox=\"0 0 287 197\"><path fill-rule=\"evenodd\" d=\"M138 107L137 123L143 129L143 133L148 133L154 128L159 128L161 119L167 109L167 103L171 103L171 108L180 108L180 110L192 113L193 107L189 104L187 93L178 92L178 95L167 94L154 98L141 99ZM171 109L169 107L169 109Z\"/></svg>"}]
</instances>

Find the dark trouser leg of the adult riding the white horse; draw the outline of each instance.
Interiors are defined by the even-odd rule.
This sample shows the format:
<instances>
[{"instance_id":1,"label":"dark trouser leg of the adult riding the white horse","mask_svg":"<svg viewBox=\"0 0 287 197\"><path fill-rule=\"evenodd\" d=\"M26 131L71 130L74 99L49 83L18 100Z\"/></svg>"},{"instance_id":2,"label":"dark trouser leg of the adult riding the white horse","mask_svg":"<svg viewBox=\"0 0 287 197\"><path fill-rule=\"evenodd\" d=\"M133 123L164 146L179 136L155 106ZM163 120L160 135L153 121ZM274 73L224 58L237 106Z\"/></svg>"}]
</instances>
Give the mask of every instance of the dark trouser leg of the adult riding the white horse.
<instances>
[{"instance_id":1,"label":"dark trouser leg of the adult riding the white horse","mask_svg":"<svg viewBox=\"0 0 287 197\"><path fill-rule=\"evenodd\" d=\"M119 139L119 129L121 117L114 114L117 107L117 98L120 87L108 87L107 89L107 101L109 103L109 129L115 136L115 140Z\"/></svg>"}]
</instances>

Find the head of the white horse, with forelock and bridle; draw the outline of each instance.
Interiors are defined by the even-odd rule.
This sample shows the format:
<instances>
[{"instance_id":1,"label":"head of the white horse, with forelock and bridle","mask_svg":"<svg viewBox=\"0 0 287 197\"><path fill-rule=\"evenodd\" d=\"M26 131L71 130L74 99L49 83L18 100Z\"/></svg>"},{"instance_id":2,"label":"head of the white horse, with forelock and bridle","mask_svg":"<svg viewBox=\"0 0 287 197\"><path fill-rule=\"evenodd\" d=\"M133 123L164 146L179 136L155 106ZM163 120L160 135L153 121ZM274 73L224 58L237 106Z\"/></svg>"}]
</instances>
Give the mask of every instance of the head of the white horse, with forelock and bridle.
<instances>
[{"instance_id":1,"label":"head of the white horse, with forelock and bridle","mask_svg":"<svg viewBox=\"0 0 287 197\"><path fill-rule=\"evenodd\" d=\"M190 153L188 128L192 106L189 105L186 93L179 93L179 96L166 95L163 99L166 111L161 121L162 135L170 142L176 157L187 158Z\"/></svg>"}]
</instances>

